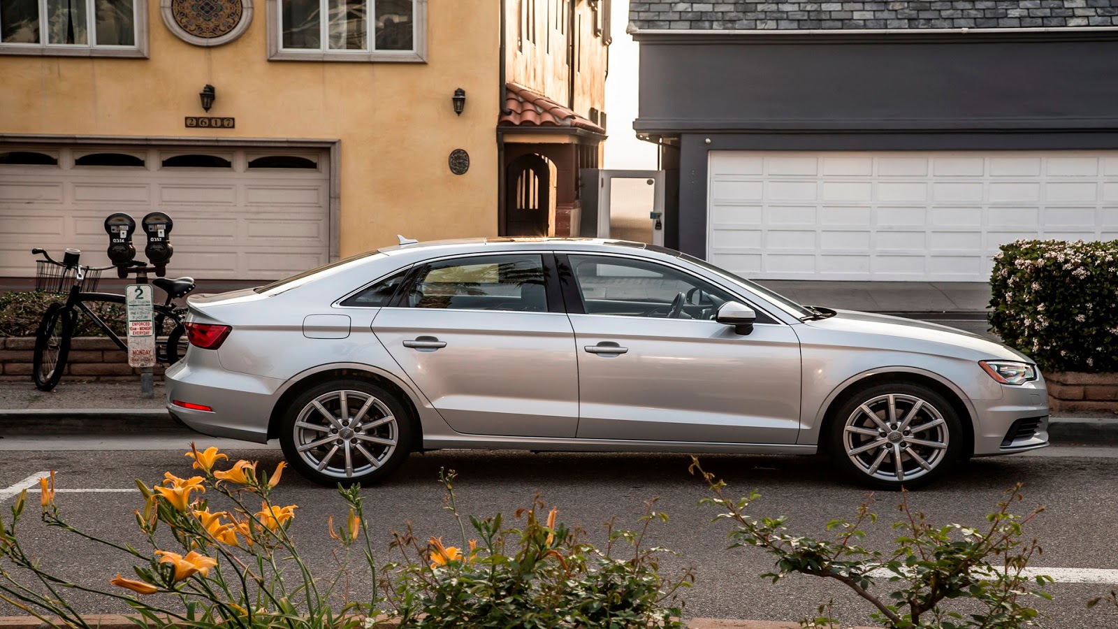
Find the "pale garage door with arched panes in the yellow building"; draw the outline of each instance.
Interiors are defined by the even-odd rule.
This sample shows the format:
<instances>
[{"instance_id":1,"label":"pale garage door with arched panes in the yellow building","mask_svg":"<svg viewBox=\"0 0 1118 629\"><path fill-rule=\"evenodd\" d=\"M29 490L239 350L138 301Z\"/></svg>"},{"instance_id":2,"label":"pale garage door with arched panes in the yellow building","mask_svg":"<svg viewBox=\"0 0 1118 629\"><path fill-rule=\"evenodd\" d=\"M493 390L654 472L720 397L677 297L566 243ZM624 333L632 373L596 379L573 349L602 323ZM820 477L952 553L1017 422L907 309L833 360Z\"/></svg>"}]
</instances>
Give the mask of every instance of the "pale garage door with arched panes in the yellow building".
<instances>
[{"instance_id":1,"label":"pale garage door with arched panes in the yellow building","mask_svg":"<svg viewBox=\"0 0 1118 629\"><path fill-rule=\"evenodd\" d=\"M328 262L330 161L287 149L0 149L0 276L35 274L31 248L106 265L114 212L174 220L168 275L267 280ZM144 260L143 236L133 240ZM57 257L58 255L55 255Z\"/></svg>"}]
</instances>

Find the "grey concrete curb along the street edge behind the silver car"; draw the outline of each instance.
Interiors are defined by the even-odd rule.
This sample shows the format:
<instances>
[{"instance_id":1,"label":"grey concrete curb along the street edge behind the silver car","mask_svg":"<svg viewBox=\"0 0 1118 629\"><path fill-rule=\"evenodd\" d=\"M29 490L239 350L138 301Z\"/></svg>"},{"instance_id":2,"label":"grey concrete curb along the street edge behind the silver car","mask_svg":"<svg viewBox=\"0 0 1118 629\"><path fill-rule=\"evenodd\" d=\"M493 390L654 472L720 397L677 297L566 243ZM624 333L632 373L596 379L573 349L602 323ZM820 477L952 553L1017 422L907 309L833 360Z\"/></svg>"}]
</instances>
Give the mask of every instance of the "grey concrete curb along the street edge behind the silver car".
<instances>
[{"instance_id":1,"label":"grey concrete curb along the street edge behind the silver car","mask_svg":"<svg viewBox=\"0 0 1118 629\"><path fill-rule=\"evenodd\" d=\"M184 433L163 409L20 409L0 410L0 435L84 433ZM1118 445L1118 417L1052 417L1053 443Z\"/></svg>"}]
</instances>

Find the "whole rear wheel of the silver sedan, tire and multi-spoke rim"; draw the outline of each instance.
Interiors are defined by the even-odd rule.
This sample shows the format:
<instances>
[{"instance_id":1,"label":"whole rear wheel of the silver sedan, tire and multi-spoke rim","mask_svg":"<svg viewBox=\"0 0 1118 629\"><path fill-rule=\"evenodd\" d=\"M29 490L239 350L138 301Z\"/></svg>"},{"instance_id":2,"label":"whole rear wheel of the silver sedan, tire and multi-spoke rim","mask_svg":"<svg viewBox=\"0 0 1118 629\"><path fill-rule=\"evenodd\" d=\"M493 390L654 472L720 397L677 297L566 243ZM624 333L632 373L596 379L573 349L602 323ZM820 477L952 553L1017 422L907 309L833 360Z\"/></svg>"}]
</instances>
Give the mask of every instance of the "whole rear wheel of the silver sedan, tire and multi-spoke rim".
<instances>
[{"instance_id":1,"label":"whole rear wheel of the silver sedan, tire and multi-spoke rim","mask_svg":"<svg viewBox=\"0 0 1118 629\"><path fill-rule=\"evenodd\" d=\"M399 397L345 378L311 386L284 411L280 444L307 479L331 487L378 481L407 458L411 420Z\"/></svg>"}]
</instances>

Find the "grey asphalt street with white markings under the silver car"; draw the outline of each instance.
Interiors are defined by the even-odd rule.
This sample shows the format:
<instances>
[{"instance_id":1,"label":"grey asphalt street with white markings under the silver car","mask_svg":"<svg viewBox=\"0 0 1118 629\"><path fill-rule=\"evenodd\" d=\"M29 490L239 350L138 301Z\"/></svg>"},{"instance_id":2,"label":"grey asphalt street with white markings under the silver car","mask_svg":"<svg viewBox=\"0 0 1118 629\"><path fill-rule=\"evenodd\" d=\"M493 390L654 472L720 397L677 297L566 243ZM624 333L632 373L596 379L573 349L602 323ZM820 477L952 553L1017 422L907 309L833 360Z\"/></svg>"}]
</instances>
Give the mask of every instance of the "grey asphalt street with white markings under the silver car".
<instances>
[{"instance_id":1,"label":"grey asphalt street with white markings under the silver car","mask_svg":"<svg viewBox=\"0 0 1118 629\"><path fill-rule=\"evenodd\" d=\"M132 509L142 504L133 479L149 484L163 471L179 476L190 472L181 449L134 451L105 450L97 440L63 447L58 440L40 448L49 450L7 450L0 454L0 514L7 519L11 492L4 488L42 470L57 470L64 491L57 503L65 516L89 532L115 541L141 544L135 533ZM199 441L203 445L205 441ZM87 449L82 449L82 448ZM155 442L148 448L173 447ZM22 448L35 448L23 443ZM274 449L233 450L230 457L259 459L271 470L281 460ZM912 508L922 510L938 523L982 525L1003 490L1024 482L1022 510L1045 506L1045 511L1026 526L1027 536L1036 537L1044 553L1035 567L1118 569L1118 464L1115 451L1107 448L1053 448L1048 452L993 459L976 459L939 485L913 492ZM852 516L866 491L839 478L821 457L710 456L703 458L710 471L729 482L733 494L757 488L762 498L750 507L754 515L787 515L794 531L824 534L827 520ZM643 504L659 497L656 508L671 519L651 529L647 543L679 553L662 562L666 573L693 566L695 584L683 592L686 617L798 620L815 611L821 602L833 600L835 611L846 623L868 625L868 607L830 581L792 576L777 584L759 578L773 569L769 555L756 548L727 550L728 527L711 524L716 511L697 506L708 495L704 486L688 473L688 458L675 454L569 454L527 452L447 451L414 454L405 466L381 485L364 490L370 527L379 542L379 558L396 560L388 553L389 534L410 522L421 537L443 536L457 541L457 526L444 507L444 491L437 481L440 468L458 472L456 485L463 513L479 516L503 511L506 518L527 506L539 492L549 506L557 505L560 520L580 526L591 541L604 539L603 523L616 516L618 524L637 526ZM87 491L100 490L100 491ZM881 516L870 527L865 544L888 550L897 535L889 526L899 514L900 496L877 495ZM326 518L344 520L344 507L330 488L309 484L287 470L277 489L276 501L299 505L293 535L312 570L323 576L338 573L334 543L326 535ZM35 517L37 500L31 500L32 517L21 537L41 557L44 565L58 569L78 583L103 585L117 572L131 573L131 563L119 553L82 542L57 529L45 529ZM468 525L467 525L468 526ZM1109 573L1114 574L1114 573ZM354 573L354 595L367 586ZM887 583L883 585L888 585ZM1087 609L1087 600L1105 594L1118 584L1057 583L1048 591L1054 600L1038 600L1044 626L1051 629L1118 628L1118 610ZM122 608L84 594L73 598L85 612L110 612ZM967 609L966 604L956 608ZM13 613L15 610L0 610Z\"/></svg>"}]
</instances>

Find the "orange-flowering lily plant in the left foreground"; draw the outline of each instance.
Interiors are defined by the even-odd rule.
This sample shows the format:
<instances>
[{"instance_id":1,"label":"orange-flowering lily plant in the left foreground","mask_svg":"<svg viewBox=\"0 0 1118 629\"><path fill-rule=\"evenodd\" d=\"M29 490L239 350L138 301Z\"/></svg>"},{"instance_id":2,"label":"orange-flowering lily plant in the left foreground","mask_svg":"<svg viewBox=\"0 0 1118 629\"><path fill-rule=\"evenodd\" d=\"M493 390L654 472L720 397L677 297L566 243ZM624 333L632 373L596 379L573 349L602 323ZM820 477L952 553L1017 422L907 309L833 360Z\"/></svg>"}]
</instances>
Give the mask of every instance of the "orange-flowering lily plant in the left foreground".
<instances>
[{"instance_id":1,"label":"orange-flowering lily plant in the left foreground","mask_svg":"<svg viewBox=\"0 0 1118 629\"><path fill-rule=\"evenodd\" d=\"M55 503L54 472L40 480L42 522L89 542L113 548L133 562L135 579L117 574L105 586L74 583L47 570L20 542L25 490L11 508L11 519L0 519L0 554L19 570L0 566L0 600L23 610L50 627L91 629L88 621L66 600L73 591L98 594L127 603L141 627L212 629L371 629L377 626L372 546L364 525L360 487L339 489L350 508L349 524L339 534L339 572L332 579L313 575L300 556L288 528L295 505L280 506L272 494L285 463L271 476L257 471L255 461L237 461L228 470L215 464L226 454L216 448L187 452L201 476L179 478L170 472L149 487L138 480L144 497L134 511L149 551L105 539L80 529L63 517ZM203 498L202 496L214 498ZM259 500L260 508L249 506ZM217 510L220 501L226 510ZM212 506L211 506L212 505ZM214 510L211 510L211 508ZM157 531L162 534L157 536ZM352 600L340 583L349 575L352 547L362 548L369 565L368 599ZM281 565L291 565L286 572ZM294 573L294 574L292 574ZM31 579L26 579L30 575ZM23 579L26 579L26 582ZM348 583L348 581L345 582ZM337 600L340 594L341 602Z\"/></svg>"}]
</instances>

